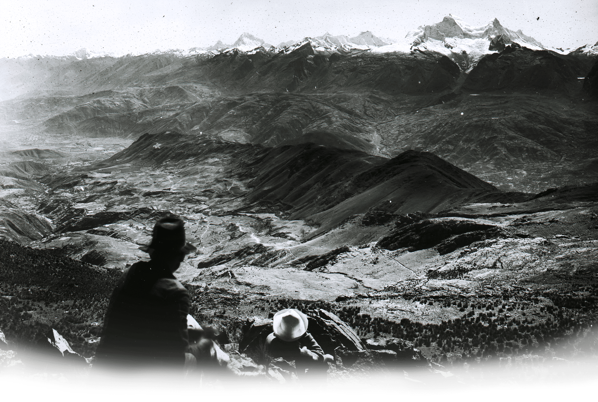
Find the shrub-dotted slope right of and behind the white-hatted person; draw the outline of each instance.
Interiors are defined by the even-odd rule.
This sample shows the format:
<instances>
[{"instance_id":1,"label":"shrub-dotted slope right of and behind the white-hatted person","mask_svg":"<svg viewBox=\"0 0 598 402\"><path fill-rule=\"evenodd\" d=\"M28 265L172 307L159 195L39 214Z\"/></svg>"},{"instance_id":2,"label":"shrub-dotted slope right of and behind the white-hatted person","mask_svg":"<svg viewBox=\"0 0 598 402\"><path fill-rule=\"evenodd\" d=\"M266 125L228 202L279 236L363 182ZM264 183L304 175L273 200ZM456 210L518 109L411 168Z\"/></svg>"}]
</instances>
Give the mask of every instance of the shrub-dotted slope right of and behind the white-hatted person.
<instances>
[{"instance_id":1,"label":"shrub-dotted slope right of and behind the white-hatted person","mask_svg":"<svg viewBox=\"0 0 598 402\"><path fill-rule=\"evenodd\" d=\"M338 308L337 303L309 300L280 299L272 303L271 310L328 309L349 323L362 339L398 337L413 342L432 361L469 385L563 382L598 374L597 295L597 287L583 286L571 294L529 291L504 294L504 299L415 297L414 302L454 306L464 313L440 324L408 318L395 322L360 314L359 306ZM541 297L551 303L539 305ZM526 317L525 311L532 309L543 313L542 320Z\"/></svg>"}]
</instances>

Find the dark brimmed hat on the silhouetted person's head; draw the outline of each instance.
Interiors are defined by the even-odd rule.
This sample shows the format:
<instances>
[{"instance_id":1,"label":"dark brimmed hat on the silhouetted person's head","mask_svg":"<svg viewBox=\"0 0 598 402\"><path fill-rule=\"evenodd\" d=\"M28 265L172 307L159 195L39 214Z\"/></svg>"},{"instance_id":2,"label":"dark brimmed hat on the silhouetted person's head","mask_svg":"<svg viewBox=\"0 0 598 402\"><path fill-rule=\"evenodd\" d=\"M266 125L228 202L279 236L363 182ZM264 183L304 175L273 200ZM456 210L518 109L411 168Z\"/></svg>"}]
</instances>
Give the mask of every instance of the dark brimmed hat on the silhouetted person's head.
<instances>
[{"instance_id":1,"label":"dark brimmed hat on the silhouetted person's head","mask_svg":"<svg viewBox=\"0 0 598 402\"><path fill-rule=\"evenodd\" d=\"M139 250L150 251L182 251L193 253L197 247L185 239L185 223L178 218L162 218L154 225L151 244L139 247Z\"/></svg>"}]
</instances>

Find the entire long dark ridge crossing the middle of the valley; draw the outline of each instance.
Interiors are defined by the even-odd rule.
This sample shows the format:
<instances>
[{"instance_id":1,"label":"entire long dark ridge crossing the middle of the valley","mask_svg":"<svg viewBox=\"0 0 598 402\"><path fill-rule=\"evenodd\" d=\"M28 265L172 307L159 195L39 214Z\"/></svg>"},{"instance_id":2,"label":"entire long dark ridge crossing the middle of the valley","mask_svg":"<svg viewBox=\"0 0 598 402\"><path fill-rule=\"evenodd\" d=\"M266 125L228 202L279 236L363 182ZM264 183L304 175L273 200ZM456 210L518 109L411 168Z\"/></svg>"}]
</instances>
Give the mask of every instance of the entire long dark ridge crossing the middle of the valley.
<instances>
[{"instance_id":1,"label":"entire long dark ridge crossing the middle of the valley","mask_svg":"<svg viewBox=\"0 0 598 402\"><path fill-rule=\"evenodd\" d=\"M234 161L227 162L229 172L252 188L245 195L247 202L276 204L290 219L318 223L321 226L311 237L369 210L437 212L505 197L504 192L430 152L407 151L386 159L313 143L262 148L205 135L161 133L144 134L102 166L191 161L216 149L235 153Z\"/></svg>"}]
</instances>

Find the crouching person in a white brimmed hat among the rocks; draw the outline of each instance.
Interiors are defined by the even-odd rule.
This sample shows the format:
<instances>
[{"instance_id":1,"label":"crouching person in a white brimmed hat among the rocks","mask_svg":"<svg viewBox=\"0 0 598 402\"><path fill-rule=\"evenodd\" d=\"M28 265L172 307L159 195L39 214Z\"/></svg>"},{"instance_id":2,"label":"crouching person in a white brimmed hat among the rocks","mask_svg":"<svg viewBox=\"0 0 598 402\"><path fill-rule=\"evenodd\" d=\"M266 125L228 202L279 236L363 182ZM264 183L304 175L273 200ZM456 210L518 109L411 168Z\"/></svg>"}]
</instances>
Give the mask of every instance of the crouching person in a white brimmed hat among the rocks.
<instances>
[{"instance_id":1,"label":"crouching person in a white brimmed hat among the rocks","mask_svg":"<svg viewBox=\"0 0 598 402\"><path fill-rule=\"evenodd\" d=\"M295 361L297 376L301 382L326 382L328 361L334 360L307 332L307 315L287 308L273 317L273 333L266 338L269 354Z\"/></svg>"}]
</instances>

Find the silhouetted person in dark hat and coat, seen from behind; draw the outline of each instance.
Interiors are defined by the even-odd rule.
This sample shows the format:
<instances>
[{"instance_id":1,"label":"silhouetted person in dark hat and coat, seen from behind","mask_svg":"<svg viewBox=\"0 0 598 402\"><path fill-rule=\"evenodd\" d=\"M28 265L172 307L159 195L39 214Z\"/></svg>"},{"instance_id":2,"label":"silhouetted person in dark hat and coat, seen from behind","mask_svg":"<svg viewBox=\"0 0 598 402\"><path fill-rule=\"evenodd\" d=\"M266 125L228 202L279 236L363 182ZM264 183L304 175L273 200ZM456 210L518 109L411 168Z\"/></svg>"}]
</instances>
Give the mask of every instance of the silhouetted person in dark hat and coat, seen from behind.
<instances>
[{"instance_id":1,"label":"silhouetted person in dark hat and coat, seen from behind","mask_svg":"<svg viewBox=\"0 0 598 402\"><path fill-rule=\"evenodd\" d=\"M187 351L190 296L173 273L196 247L181 219L155 223L151 260L133 264L117 283L103 321L90 373L94 379L182 382L196 359Z\"/></svg>"}]
</instances>

